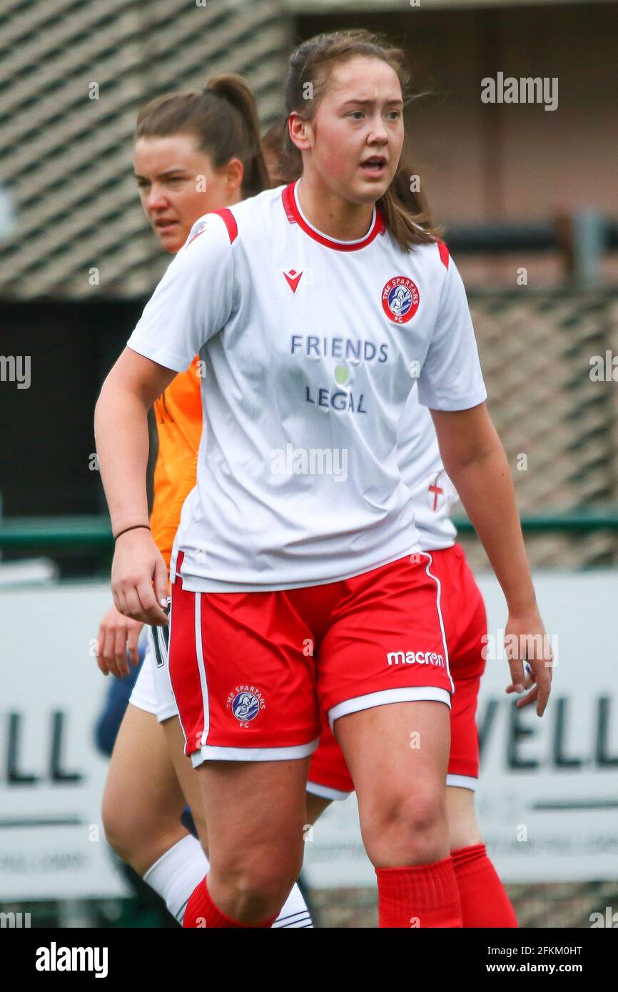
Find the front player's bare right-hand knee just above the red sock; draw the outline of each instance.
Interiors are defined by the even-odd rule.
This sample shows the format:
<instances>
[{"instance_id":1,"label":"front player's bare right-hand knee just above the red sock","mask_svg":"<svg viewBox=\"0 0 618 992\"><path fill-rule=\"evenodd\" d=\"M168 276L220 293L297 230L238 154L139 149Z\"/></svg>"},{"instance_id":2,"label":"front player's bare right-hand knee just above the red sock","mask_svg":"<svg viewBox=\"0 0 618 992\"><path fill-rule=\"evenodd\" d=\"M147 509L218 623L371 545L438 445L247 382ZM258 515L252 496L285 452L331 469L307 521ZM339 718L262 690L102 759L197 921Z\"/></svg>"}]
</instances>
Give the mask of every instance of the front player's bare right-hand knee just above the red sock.
<instances>
[{"instance_id":1,"label":"front player's bare right-hand knee just above the red sock","mask_svg":"<svg viewBox=\"0 0 618 992\"><path fill-rule=\"evenodd\" d=\"M363 816L362 831L376 867L438 860L447 844L443 790L427 785L383 796Z\"/></svg>"}]
</instances>

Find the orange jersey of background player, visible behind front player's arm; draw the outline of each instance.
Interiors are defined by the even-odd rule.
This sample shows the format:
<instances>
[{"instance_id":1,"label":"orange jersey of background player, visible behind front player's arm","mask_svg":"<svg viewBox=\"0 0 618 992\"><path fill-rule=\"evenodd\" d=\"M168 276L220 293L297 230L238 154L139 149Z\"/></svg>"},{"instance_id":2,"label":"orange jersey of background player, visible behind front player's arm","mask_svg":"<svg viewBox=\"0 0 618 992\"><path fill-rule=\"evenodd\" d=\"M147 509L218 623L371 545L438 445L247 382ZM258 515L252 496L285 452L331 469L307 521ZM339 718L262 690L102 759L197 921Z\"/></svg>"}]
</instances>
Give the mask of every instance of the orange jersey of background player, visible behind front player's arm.
<instances>
[{"instance_id":1,"label":"orange jersey of background player, visible behind front player's arm","mask_svg":"<svg viewBox=\"0 0 618 992\"><path fill-rule=\"evenodd\" d=\"M197 362L195 356L186 371L177 375L155 403L159 454L150 526L168 571L183 503L196 479L197 448L201 438Z\"/></svg>"}]
</instances>

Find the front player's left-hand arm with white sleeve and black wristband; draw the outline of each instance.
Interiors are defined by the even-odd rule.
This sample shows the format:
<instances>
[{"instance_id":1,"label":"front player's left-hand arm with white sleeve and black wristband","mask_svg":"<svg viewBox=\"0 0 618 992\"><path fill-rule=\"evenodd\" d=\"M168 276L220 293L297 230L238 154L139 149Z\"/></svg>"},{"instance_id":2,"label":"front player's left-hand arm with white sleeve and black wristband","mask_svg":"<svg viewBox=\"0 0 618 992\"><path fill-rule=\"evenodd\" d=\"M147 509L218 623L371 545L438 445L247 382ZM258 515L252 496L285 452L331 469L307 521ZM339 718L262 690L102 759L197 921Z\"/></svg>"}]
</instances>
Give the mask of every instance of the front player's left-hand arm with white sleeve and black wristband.
<instances>
[{"instance_id":1,"label":"front player's left-hand arm with white sleeve and black wristband","mask_svg":"<svg viewBox=\"0 0 618 992\"><path fill-rule=\"evenodd\" d=\"M197 234L197 226L199 234ZM167 624L168 573L148 525L148 410L178 372L225 324L234 304L232 239L208 214L189 237L146 305L129 346L108 375L96 406L101 478L116 541L112 593L120 613ZM131 530L126 530L132 528Z\"/></svg>"}]
</instances>

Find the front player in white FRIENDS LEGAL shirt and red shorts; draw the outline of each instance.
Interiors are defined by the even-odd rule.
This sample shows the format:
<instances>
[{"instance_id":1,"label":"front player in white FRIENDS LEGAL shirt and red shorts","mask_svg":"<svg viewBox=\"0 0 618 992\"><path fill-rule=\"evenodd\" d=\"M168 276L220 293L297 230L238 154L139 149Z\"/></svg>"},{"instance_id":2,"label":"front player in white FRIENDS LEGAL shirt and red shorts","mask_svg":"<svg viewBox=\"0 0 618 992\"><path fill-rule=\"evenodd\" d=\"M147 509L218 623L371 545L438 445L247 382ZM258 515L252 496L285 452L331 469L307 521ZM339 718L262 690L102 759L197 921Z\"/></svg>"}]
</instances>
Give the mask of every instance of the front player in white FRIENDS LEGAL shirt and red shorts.
<instances>
[{"instance_id":1,"label":"front player in white FRIENDS LEGAL shirt and red shorts","mask_svg":"<svg viewBox=\"0 0 618 992\"><path fill-rule=\"evenodd\" d=\"M303 96L305 76L315 81L320 96L326 93L319 102L309 101L309 106ZM450 735L448 712L442 704L449 705L452 682L439 612L440 586L431 570L431 556L415 554L409 560L394 554L405 555L405 547L416 544L410 494L402 487L396 462L393 472L396 447L391 444L411 391L403 376L410 376L415 354L422 358L422 371L417 373L421 395L433 409L442 450L448 452L449 473L511 607L508 629L526 634L543 629L508 466L482 406L486 394L460 280L454 265L448 271L445 250L440 247L438 251L433 237L416 228L388 193L401 153L403 123L396 110L382 118L382 107L387 92L389 106L401 104L401 97L394 96L397 79L400 84L404 81L401 53L387 51L367 33L320 37L295 53L288 110L295 141L304 150L304 199L309 197L311 212L319 214L316 187L324 185L336 219L322 218L321 223L328 224L331 234L311 226L296 186L288 187L283 195L283 213L280 197L273 191L233 211L219 211L219 217L205 217L158 287L97 405L101 470L117 540L115 602L123 613L163 625L166 617L156 605L165 591L163 562L151 537L144 533L149 528L143 523L147 437L142 415L173 380L172 370L182 371L197 349L202 349L200 354L213 375L210 388L202 393L208 430L200 446L198 485L185 503L178 557L172 562L172 679L185 727L186 753L199 767L213 854L207 885L204 879L189 900L185 914L185 925L187 915L192 919L189 926L203 926L199 920L215 928L272 925L274 917L269 919L268 910L283 904L303 850L305 803L300 789L307 779L312 736L320 721L313 706L315 687L331 721L336 721L337 739L353 773L363 837L378 875L381 926L408 927L415 919L422 926L461 926L452 859L443 856L444 847L448 852L444 781ZM354 86L361 82L377 91L379 98L360 100ZM397 90L401 92L399 86ZM380 122L376 124L372 114L368 125L358 109L347 115L335 112L334 103L345 94L351 94L349 103L379 106ZM324 106L327 109L320 115L323 137L317 142L314 117ZM354 118L355 114L361 116ZM365 141L369 148L364 147ZM370 148L374 154L357 161ZM375 149L390 152L390 158ZM329 162L336 163L339 172ZM376 201L381 212L375 209ZM360 214L368 217L370 206L369 232L350 240L350 229L367 231ZM384 241L376 241L387 230ZM265 240L265 234L270 240ZM418 254L416 248L412 254L412 244ZM361 378L367 393L350 394L345 409L365 414L365 395L374 401L376 419L362 422L370 437L358 434L359 422L348 416L333 414L328 421L323 416L317 420L309 386L306 402L315 411L302 407L293 413L292 394L273 392L278 377L285 378L285 340L278 334L279 321L285 320L285 311L292 314L291 297L280 300L281 284L273 281L282 264L292 293L300 278L282 254L286 245L297 256L302 250L312 252L320 270L326 262L323 249L329 250L330 281L336 281L337 288L335 292L333 282L328 299L341 307L343 301L356 300L362 286L366 297L364 303L360 301L363 319L370 314L376 323L374 336L378 323L380 336L386 335L381 345L384 362L389 347L396 355L405 349L396 367L392 371L389 367L390 375L379 378L377 363L368 364L375 357L376 345L369 342L369 349L365 348L369 359L365 354ZM332 257L333 252L360 252L368 246L372 251L362 262L344 255L347 264L339 264L340 257ZM401 249L410 252L408 259L400 258ZM384 297L382 309L397 322L404 309L391 310L391 299L396 289L399 292L406 285L406 310L413 308L410 316L414 315L419 306L413 294L416 285L408 277L395 277L403 263L421 282L427 301L426 315L416 322L411 335L396 334L396 328L384 322L368 290L371 280L382 282L390 273L401 282L392 287L388 299ZM365 269L358 272L355 282L352 266L361 264ZM319 310L315 310L319 295L308 294L303 303L298 326L303 328L305 321L312 330L315 321L319 322ZM346 316L350 319L349 313ZM365 334L371 335L369 327ZM419 335L418 349L412 342ZM210 337L211 347L205 344ZM300 349L304 335L293 336L293 354L296 338ZM313 349L320 346L320 339L315 340ZM309 338L307 345L309 349ZM325 350L314 354L319 363L313 364L313 371L329 376ZM320 388L316 394L319 406L328 406L328 393ZM337 405L332 403L333 411L343 411L341 395L334 394ZM457 416L453 418L454 411ZM277 445L286 437L282 427L295 424L306 429L304 441L319 439L322 443L317 426L325 429L328 425L331 439L335 443L347 440L358 459L348 486L338 493L319 479L311 479L310 510L304 499L309 480L297 480L295 472L287 477L289 485L280 485L275 478L280 473L269 474L265 465L269 450L271 455L273 449L279 450ZM206 448L214 448L212 461ZM371 482L369 490L359 489L363 476ZM392 484L395 488L389 490ZM241 494L244 507L238 505ZM334 495L337 503L332 502ZM499 533L494 519L496 500L501 506ZM377 508L379 513L372 520ZM343 516L337 518L337 513ZM247 529L249 525L254 529L258 522L254 536L260 536L259 554L250 550L251 542L247 548ZM296 534L294 541L292 537L284 541L279 534L278 529L288 528ZM346 558L350 552L356 562L351 574ZM270 562L267 567L263 558ZM246 591L240 592L239 584ZM313 666L301 657L298 643L313 627L320 631L321 642L317 686L312 683ZM398 658L391 659L392 671L384 668L370 676L376 649L379 654L386 650L389 658L388 645L402 635L407 641L433 645L433 651L412 660L404 658L401 666ZM326 638L329 650L325 649ZM359 645L367 650L359 653ZM444 655L435 653L438 650ZM286 659L283 668L282 659ZM509 662L510 688L521 690L521 659L513 657ZM531 662L539 685L520 701L538 700L541 715L550 673L545 670L545 659ZM416 667L410 668L413 664ZM223 686L234 676L246 682L247 667L252 684L237 686L226 704ZM266 700L257 686L266 679L271 692L264 713ZM373 691L367 694L369 689ZM393 705L385 710L387 703ZM228 710L231 707L228 713L226 705ZM260 713L257 729L245 733ZM237 723L230 717L236 717ZM410 726L418 728L424 742L414 755L411 747L400 746L400 735Z\"/></svg>"}]
</instances>

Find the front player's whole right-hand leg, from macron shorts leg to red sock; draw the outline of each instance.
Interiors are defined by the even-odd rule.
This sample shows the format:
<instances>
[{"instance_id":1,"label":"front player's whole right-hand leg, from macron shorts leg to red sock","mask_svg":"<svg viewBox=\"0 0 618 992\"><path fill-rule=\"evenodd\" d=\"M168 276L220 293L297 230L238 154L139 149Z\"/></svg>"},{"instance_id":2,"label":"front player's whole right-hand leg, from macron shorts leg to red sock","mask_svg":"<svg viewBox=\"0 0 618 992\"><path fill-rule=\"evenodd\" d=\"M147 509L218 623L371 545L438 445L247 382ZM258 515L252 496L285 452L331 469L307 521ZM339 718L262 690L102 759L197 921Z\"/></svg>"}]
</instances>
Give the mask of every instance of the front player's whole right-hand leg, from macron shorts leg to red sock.
<instances>
[{"instance_id":1,"label":"front player's whole right-hand leg, from macron shorts leg to red sock","mask_svg":"<svg viewBox=\"0 0 618 992\"><path fill-rule=\"evenodd\" d=\"M446 819L453 686L431 557L341 585L318 688L356 788L380 926L460 927Z\"/></svg>"}]
</instances>

